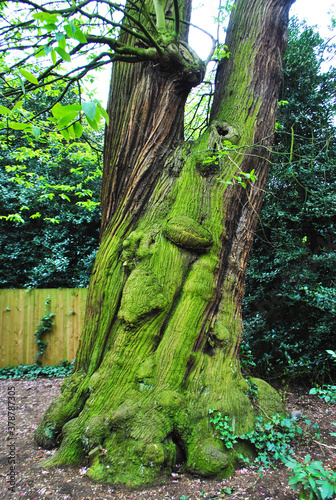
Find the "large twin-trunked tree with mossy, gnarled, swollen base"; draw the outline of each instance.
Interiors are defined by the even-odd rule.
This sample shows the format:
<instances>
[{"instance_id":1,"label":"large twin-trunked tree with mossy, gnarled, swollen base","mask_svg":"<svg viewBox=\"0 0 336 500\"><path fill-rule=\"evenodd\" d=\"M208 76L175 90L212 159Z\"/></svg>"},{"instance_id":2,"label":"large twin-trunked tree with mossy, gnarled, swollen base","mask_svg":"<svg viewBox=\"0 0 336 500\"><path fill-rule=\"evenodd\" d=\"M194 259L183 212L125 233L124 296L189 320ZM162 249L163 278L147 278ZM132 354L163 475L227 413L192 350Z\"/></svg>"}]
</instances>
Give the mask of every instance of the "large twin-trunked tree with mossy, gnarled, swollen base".
<instances>
[{"instance_id":1,"label":"large twin-trunked tree with mossy, gnarled, swollen base","mask_svg":"<svg viewBox=\"0 0 336 500\"><path fill-rule=\"evenodd\" d=\"M249 450L214 437L209 409L237 434L261 411L282 409L261 380L253 379L258 404L250 400L239 346L293 0L237 0L231 56L219 64L210 124L193 143L183 142L183 112L204 65L186 43L191 0L179 0L178 34L177 9L166 2L164 18L154 3L155 60L113 67L85 327L74 373L36 431L40 446L60 445L49 465L89 460L91 478L128 486L181 462L229 475L237 451ZM151 29L148 16L141 21ZM246 186L233 178L253 169Z\"/></svg>"}]
</instances>

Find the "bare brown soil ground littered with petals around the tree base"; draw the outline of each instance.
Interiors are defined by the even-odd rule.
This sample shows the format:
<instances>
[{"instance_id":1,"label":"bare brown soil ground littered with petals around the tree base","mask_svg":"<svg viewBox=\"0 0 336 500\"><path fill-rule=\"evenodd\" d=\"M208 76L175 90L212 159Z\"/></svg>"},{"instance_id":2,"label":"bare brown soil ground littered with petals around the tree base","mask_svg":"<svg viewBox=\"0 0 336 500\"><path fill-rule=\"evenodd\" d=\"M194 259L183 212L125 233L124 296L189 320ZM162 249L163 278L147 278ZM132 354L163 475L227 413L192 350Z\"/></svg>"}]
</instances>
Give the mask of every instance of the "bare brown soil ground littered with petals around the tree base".
<instances>
[{"instance_id":1,"label":"bare brown soil ground littered with petals around the tree base","mask_svg":"<svg viewBox=\"0 0 336 500\"><path fill-rule=\"evenodd\" d=\"M177 468L168 478L164 477L153 487L128 490L111 484L96 484L85 476L83 467L58 467L46 469L43 460L53 451L46 451L34 444L34 431L50 402L60 393L63 379L37 379L0 381L1 455L0 499L5 500L296 500L298 492L288 487L289 471L279 465L260 473L257 467L241 468L223 481L192 477ZM14 389L13 389L14 388ZM15 436L8 431L8 396L15 392ZM295 458L303 461L309 453L321 460L330 470L336 469L336 408L309 395L309 388L282 388L282 397L288 412L301 411L321 428L321 436L295 443ZM15 438L15 491L8 490L11 458L10 443ZM230 489L230 492L228 490Z\"/></svg>"}]
</instances>

